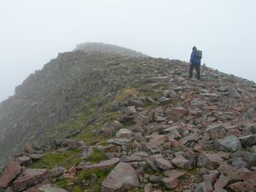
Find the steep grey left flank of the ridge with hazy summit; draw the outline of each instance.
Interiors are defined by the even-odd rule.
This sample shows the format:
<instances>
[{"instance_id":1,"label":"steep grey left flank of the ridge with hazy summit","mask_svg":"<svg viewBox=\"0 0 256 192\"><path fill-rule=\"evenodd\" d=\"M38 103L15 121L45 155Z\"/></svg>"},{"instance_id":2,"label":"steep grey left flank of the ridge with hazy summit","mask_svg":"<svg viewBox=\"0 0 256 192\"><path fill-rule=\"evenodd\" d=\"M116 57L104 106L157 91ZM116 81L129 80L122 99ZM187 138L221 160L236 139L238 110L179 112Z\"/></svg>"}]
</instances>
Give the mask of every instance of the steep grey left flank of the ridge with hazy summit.
<instances>
[{"instance_id":1,"label":"steep grey left flank of the ridge with hazy summit","mask_svg":"<svg viewBox=\"0 0 256 192\"><path fill-rule=\"evenodd\" d=\"M29 75L15 88L15 96L0 103L0 167L13 154L4 146L20 150L25 140L34 142L39 137L40 142L48 142L51 138L44 136L44 132L69 118L81 103L90 102L95 93L100 93L101 100L121 88L123 82L113 83L116 79L110 68L115 67L113 62L118 66L122 60L131 63L127 57L134 63L147 58L114 45L80 44L76 50L59 54L42 70ZM64 128L56 137L67 137L70 133Z\"/></svg>"}]
</instances>

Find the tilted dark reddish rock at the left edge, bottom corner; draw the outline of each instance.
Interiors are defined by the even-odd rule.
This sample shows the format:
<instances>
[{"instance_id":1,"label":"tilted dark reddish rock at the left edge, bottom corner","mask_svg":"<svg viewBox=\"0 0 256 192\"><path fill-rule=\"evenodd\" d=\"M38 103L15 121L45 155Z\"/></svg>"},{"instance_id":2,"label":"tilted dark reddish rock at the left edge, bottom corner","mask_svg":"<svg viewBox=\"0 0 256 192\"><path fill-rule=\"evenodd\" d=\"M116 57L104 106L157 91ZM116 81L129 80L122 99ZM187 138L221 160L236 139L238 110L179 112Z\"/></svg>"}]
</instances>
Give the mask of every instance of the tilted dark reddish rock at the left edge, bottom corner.
<instances>
[{"instance_id":1,"label":"tilted dark reddish rock at the left edge, bottom corner","mask_svg":"<svg viewBox=\"0 0 256 192\"><path fill-rule=\"evenodd\" d=\"M7 188L11 182L17 177L21 172L21 167L15 162L11 162L9 166L3 172L0 178L0 188Z\"/></svg>"}]
</instances>

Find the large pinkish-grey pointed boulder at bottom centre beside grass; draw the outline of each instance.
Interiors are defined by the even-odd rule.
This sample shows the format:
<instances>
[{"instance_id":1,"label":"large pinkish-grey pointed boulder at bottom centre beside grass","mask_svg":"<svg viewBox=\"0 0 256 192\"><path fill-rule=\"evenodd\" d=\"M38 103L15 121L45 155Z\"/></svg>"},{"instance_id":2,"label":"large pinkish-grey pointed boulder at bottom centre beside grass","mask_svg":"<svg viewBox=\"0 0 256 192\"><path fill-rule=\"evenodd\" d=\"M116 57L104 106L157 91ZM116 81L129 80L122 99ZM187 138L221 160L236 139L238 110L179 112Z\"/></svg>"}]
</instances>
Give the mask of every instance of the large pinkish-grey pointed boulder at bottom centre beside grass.
<instances>
[{"instance_id":1,"label":"large pinkish-grey pointed boulder at bottom centre beside grass","mask_svg":"<svg viewBox=\"0 0 256 192\"><path fill-rule=\"evenodd\" d=\"M102 183L102 192L128 191L139 186L137 172L127 163L119 163Z\"/></svg>"}]
</instances>

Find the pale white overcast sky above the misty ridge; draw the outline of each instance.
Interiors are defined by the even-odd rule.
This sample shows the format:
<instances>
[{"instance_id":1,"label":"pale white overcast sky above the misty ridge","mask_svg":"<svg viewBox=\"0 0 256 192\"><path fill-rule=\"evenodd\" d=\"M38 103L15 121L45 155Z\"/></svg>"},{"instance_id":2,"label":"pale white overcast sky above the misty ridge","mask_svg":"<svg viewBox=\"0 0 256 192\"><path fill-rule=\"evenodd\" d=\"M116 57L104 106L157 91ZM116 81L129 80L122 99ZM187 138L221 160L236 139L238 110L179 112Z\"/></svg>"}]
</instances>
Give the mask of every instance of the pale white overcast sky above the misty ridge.
<instances>
[{"instance_id":1,"label":"pale white overcast sky above the misty ridge","mask_svg":"<svg viewBox=\"0 0 256 192\"><path fill-rule=\"evenodd\" d=\"M0 0L0 101L59 52L117 44L256 81L255 0Z\"/></svg>"}]
</instances>

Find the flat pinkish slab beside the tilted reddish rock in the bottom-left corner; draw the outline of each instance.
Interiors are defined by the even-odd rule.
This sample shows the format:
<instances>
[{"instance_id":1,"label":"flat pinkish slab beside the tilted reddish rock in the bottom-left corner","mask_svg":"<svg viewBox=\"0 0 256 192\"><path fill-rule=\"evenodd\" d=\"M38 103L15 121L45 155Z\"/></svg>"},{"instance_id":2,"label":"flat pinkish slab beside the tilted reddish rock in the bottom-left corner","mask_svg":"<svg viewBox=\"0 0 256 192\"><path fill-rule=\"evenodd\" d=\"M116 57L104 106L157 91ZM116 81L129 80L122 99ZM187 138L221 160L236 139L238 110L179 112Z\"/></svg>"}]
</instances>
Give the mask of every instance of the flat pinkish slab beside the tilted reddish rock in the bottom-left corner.
<instances>
[{"instance_id":1,"label":"flat pinkish slab beside the tilted reddish rock in the bottom-left corner","mask_svg":"<svg viewBox=\"0 0 256 192\"><path fill-rule=\"evenodd\" d=\"M27 169L13 183L15 192L23 191L38 183L42 183L51 176L51 172L46 169Z\"/></svg>"}]
</instances>

